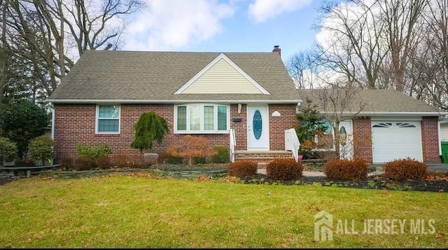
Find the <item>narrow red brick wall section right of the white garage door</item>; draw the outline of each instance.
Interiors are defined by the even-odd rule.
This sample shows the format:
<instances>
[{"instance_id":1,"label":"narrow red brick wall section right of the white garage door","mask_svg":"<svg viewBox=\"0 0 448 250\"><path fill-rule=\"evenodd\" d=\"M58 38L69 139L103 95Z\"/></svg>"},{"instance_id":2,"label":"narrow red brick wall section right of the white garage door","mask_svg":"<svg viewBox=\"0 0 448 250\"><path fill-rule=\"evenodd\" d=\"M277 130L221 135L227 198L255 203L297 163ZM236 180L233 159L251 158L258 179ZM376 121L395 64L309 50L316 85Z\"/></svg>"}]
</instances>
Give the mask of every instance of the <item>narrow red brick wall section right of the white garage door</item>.
<instances>
[{"instance_id":1,"label":"narrow red brick wall section right of the white garage door","mask_svg":"<svg viewBox=\"0 0 448 250\"><path fill-rule=\"evenodd\" d=\"M421 148L423 149L423 162L440 163L438 117L423 117L421 119Z\"/></svg>"}]
</instances>

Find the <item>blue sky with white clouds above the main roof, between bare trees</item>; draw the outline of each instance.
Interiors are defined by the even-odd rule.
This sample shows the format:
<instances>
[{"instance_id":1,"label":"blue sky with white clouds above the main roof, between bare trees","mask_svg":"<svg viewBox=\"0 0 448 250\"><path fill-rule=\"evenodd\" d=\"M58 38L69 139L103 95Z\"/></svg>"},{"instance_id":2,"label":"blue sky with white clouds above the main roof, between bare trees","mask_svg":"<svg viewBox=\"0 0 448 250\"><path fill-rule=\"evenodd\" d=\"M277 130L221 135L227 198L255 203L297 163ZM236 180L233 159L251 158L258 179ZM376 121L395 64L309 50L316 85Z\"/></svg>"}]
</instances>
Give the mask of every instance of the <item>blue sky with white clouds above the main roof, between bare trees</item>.
<instances>
[{"instance_id":1,"label":"blue sky with white clouds above the main roof, between bare trees","mask_svg":"<svg viewBox=\"0 0 448 250\"><path fill-rule=\"evenodd\" d=\"M123 50L269 52L286 61L313 45L321 0L148 0Z\"/></svg>"}]
</instances>

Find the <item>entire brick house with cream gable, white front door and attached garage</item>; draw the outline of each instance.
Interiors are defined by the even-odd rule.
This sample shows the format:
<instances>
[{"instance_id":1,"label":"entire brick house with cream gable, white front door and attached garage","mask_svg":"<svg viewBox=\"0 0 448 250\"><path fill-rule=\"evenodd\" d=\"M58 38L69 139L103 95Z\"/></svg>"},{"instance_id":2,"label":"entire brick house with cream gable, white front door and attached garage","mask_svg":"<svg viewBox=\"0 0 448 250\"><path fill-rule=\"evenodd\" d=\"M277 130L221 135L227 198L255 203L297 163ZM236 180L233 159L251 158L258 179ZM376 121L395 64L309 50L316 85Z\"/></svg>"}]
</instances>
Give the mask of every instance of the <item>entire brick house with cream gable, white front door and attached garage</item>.
<instances>
[{"instance_id":1,"label":"entire brick house with cream gable, white front door and attached garage","mask_svg":"<svg viewBox=\"0 0 448 250\"><path fill-rule=\"evenodd\" d=\"M435 109L400 92L363 93L370 109L341 124L353 134L343 147L347 157L440 162ZM237 159L290 157L297 146L295 113L306 95L295 90L277 46L272 53L86 51L48 100L54 106L56 162L76 156L78 144L139 154L130 147L134 124L148 111L169 123L151 153L193 134L228 147Z\"/></svg>"}]
</instances>

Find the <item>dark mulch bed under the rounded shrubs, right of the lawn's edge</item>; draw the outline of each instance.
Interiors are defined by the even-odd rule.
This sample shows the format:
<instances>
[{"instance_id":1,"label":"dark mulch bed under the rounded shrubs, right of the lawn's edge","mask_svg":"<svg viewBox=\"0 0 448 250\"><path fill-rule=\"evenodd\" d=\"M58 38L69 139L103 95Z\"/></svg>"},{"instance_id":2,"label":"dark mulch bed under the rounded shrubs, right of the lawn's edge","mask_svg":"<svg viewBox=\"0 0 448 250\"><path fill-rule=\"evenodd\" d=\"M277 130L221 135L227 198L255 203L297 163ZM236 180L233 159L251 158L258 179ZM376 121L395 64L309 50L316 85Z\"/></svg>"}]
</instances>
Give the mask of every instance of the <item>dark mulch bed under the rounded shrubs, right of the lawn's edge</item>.
<instances>
[{"instance_id":1,"label":"dark mulch bed under the rounded shrubs, right of the lawn's edge","mask_svg":"<svg viewBox=\"0 0 448 250\"><path fill-rule=\"evenodd\" d=\"M246 184L281 184L281 185L311 185L311 186L334 186L345 188L365 188L378 190L404 190L404 191L429 191L448 193L448 173L430 173L423 180L391 181L384 179L381 175L369 176L362 181L342 181L328 179L325 176L302 176L295 181L276 181L267 179L265 174L244 178Z\"/></svg>"}]
</instances>

